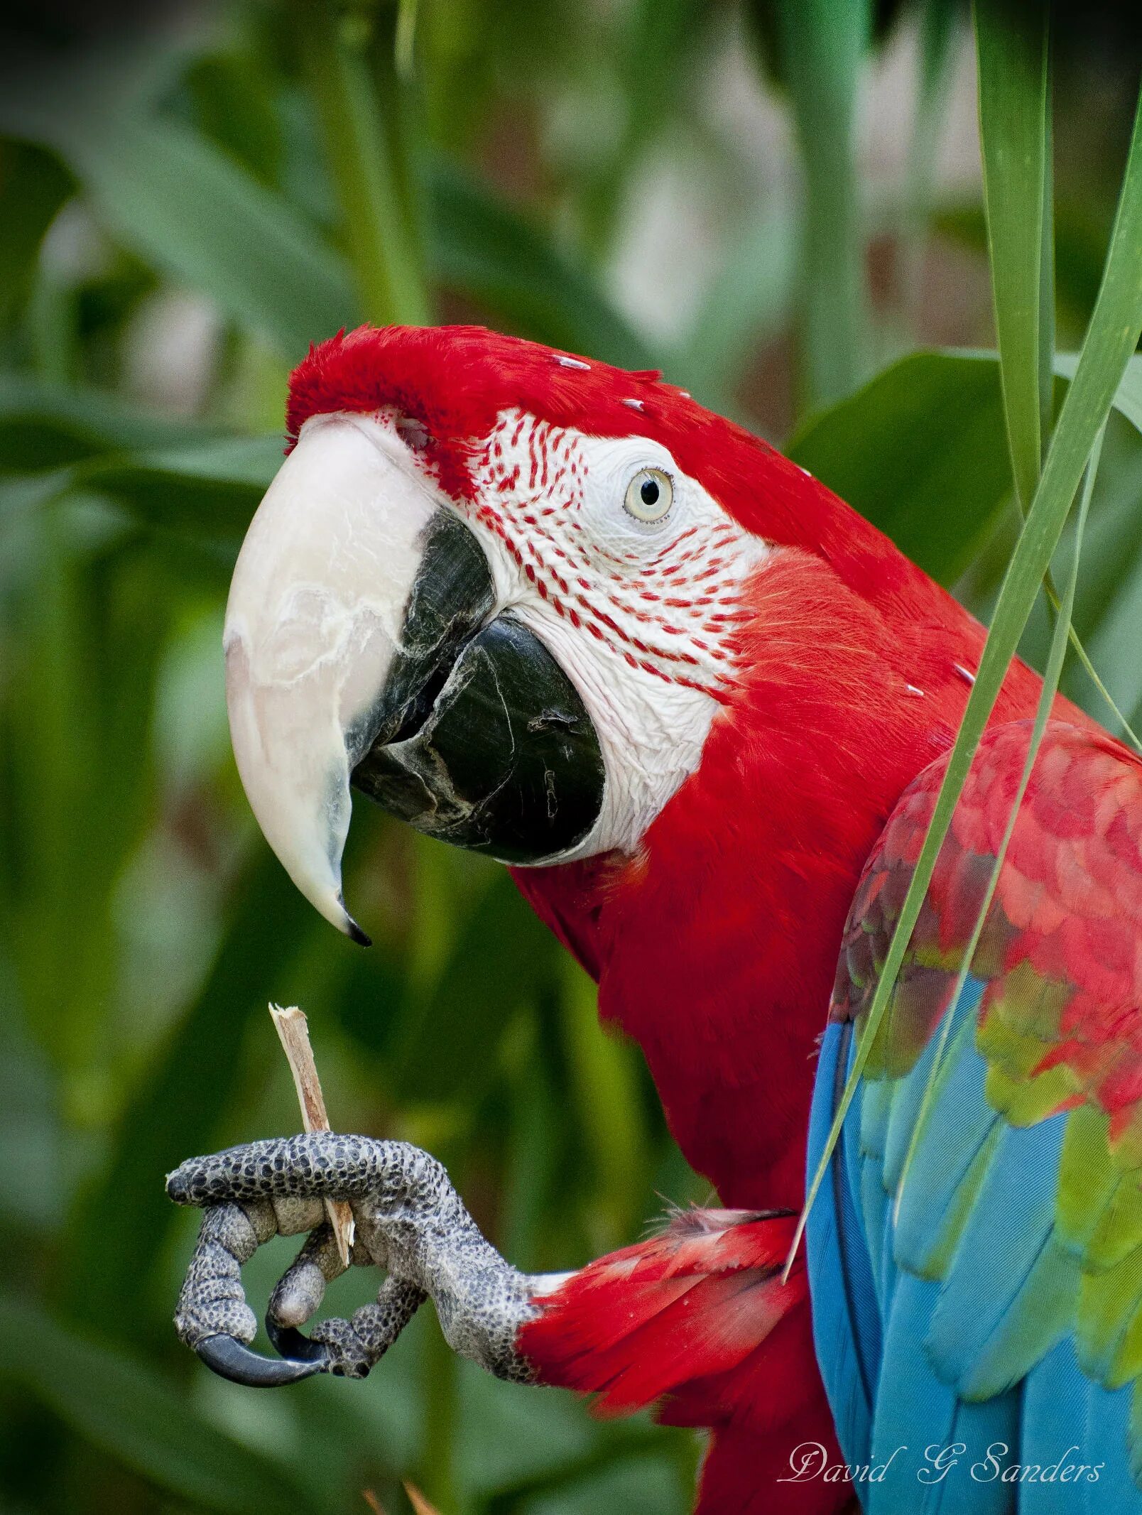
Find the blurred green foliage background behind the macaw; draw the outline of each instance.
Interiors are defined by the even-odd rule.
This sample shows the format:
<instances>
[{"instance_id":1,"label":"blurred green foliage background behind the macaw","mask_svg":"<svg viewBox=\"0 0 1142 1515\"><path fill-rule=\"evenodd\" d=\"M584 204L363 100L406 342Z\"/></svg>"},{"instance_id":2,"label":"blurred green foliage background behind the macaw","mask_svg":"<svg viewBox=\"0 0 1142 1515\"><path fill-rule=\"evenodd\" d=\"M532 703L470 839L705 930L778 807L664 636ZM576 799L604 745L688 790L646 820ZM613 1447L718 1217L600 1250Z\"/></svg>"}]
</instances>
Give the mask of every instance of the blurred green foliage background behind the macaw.
<instances>
[{"instance_id":1,"label":"blurred green foliage background behind the macaw","mask_svg":"<svg viewBox=\"0 0 1142 1515\"><path fill-rule=\"evenodd\" d=\"M1054 52L1062 350L1130 133L1128 9L1086 6ZM333 1124L432 1148L524 1268L707 1197L495 865L357 801L347 894L373 951L295 894L230 759L229 573L309 341L477 320L663 368L986 615L1016 514L968 15L247 0L6 26L0 1507L333 1515L371 1489L394 1515L410 1479L444 1515L683 1512L692 1433L486 1379L430 1309L364 1385L242 1391L174 1339L195 1217L164 1173L298 1124L268 1000L309 1012ZM1133 382L1075 624L1137 717ZM247 1268L256 1304L291 1245ZM371 1286L354 1271L329 1303Z\"/></svg>"}]
</instances>

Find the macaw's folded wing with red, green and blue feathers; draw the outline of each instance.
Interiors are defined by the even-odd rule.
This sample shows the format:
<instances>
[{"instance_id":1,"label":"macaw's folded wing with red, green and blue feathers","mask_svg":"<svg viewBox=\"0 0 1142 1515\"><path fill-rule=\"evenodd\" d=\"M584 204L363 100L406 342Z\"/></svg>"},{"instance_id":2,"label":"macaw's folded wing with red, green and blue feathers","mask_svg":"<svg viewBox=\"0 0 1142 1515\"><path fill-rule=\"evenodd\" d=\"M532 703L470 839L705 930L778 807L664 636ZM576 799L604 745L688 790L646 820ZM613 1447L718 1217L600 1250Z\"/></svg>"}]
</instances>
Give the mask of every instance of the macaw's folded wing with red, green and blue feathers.
<instances>
[{"instance_id":1,"label":"macaw's folded wing with red, green and blue feathers","mask_svg":"<svg viewBox=\"0 0 1142 1515\"><path fill-rule=\"evenodd\" d=\"M1051 723L989 895L1028 739L980 744L809 1217L845 1457L907 1448L857 1488L885 1515L1142 1515L1142 762ZM904 792L853 900L810 1174L944 773ZM924 1488L950 1442L962 1459Z\"/></svg>"}]
</instances>

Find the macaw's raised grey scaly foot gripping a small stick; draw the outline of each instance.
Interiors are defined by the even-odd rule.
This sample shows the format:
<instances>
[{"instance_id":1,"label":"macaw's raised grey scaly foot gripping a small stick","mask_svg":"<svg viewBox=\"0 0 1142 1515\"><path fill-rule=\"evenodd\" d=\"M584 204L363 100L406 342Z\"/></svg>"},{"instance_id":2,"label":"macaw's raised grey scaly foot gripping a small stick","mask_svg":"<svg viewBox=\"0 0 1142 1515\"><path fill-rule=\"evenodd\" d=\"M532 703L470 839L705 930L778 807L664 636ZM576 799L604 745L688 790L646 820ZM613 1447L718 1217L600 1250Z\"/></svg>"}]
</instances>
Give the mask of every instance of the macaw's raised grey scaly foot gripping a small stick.
<instances>
[{"instance_id":1,"label":"macaw's raised grey scaly foot gripping a small stick","mask_svg":"<svg viewBox=\"0 0 1142 1515\"><path fill-rule=\"evenodd\" d=\"M364 1379L424 1301L460 1356L501 1379L529 1382L515 1347L536 1312L538 1279L518 1273L485 1241L439 1162L420 1147L368 1136L314 1132L191 1157L167 1179L177 1204L203 1215L174 1326L217 1373L239 1383L292 1383L314 1373ZM297 1329L341 1271L323 1200L348 1200L357 1226L354 1265L386 1270L376 1304L351 1320ZM241 1265L271 1236L310 1232L270 1300L267 1327L282 1357L248 1342L256 1320Z\"/></svg>"}]
</instances>

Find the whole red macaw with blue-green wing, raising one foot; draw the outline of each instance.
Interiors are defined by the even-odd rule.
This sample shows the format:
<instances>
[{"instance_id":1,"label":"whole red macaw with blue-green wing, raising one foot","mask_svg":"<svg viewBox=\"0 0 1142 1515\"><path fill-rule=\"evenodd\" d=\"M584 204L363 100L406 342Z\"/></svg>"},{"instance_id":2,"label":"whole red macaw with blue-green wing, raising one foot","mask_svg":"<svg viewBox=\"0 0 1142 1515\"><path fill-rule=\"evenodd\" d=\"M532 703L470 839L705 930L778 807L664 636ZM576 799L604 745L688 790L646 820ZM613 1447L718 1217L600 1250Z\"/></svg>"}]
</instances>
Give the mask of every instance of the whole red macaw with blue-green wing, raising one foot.
<instances>
[{"instance_id":1,"label":"whole red macaw with blue-green wing, raising one foot","mask_svg":"<svg viewBox=\"0 0 1142 1515\"><path fill-rule=\"evenodd\" d=\"M432 1297L501 1377L707 1427L703 1515L1142 1509L1142 764L1056 700L957 995L1041 691L1012 665L786 1273L983 629L656 373L360 329L288 436L224 632L267 841L357 939L350 786L509 864L725 1209L529 1277L415 1147L251 1142L168 1179L206 1210L180 1336L364 1376ZM329 1195L386 1279L306 1338ZM301 1232L264 1359L239 1268Z\"/></svg>"}]
</instances>

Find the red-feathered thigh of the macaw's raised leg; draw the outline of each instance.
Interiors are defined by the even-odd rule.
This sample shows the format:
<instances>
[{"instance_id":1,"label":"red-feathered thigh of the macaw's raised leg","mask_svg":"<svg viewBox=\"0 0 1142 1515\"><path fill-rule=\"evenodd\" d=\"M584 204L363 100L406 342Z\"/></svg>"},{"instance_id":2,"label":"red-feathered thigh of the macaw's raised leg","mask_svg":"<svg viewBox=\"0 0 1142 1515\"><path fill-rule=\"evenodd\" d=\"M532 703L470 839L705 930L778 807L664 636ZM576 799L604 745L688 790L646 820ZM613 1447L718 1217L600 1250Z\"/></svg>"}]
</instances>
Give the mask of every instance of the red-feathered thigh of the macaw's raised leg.
<instances>
[{"instance_id":1,"label":"red-feathered thigh of the macaw's raised leg","mask_svg":"<svg viewBox=\"0 0 1142 1515\"><path fill-rule=\"evenodd\" d=\"M794 1448L841 1453L812 1342L803 1262L782 1268L795 1217L689 1210L659 1235L573 1274L536 1300L523 1351L545 1383L621 1415L656 1407L713 1432L697 1515L832 1515L851 1485L791 1479Z\"/></svg>"}]
</instances>

